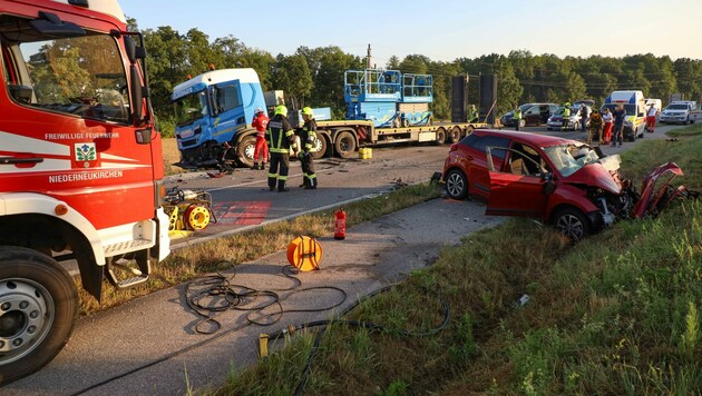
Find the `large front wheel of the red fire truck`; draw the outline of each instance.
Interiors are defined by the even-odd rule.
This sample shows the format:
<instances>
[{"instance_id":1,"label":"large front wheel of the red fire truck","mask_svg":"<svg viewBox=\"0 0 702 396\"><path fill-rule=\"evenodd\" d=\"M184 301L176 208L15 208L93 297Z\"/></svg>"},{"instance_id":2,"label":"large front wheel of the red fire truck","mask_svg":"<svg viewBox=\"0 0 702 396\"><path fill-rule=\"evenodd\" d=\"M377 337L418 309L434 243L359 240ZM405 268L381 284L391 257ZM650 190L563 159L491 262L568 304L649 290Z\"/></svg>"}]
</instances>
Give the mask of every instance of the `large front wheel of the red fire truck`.
<instances>
[{"instance_id":1,"label":"large front wheel of the red fire truck","mask_svg":"<svg viewBox=\"0 0 702 396\"><path fill-rule=\"evenodd\" d=\"M0 385L49 363L74 330L78 294L52 258L0 247Z\"/></svg>"}]
</instances>

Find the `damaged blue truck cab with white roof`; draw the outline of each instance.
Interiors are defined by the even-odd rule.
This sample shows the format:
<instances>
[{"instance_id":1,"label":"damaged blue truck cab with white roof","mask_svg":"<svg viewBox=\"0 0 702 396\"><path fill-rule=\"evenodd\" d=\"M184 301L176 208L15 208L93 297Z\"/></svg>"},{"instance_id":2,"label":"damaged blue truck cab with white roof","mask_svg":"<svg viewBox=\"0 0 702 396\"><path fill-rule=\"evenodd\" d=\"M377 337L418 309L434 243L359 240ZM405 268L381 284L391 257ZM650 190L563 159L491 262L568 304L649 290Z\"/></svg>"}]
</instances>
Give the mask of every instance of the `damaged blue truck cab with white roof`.
<instances>
[{"instance_id":1,"label":"damaged blue truck cab with white roof","mask_svg":"<svg viewBox=\"0 0 702 396\"><path fill-rule=\"evenodd\" d=\"M170 101L181 167L216 166L227 145L235 147L237 161L253 158L255 129L251 123L256 108L265 109L254 69L207 71L177 85Z\"/></svg>"}]
</instances>

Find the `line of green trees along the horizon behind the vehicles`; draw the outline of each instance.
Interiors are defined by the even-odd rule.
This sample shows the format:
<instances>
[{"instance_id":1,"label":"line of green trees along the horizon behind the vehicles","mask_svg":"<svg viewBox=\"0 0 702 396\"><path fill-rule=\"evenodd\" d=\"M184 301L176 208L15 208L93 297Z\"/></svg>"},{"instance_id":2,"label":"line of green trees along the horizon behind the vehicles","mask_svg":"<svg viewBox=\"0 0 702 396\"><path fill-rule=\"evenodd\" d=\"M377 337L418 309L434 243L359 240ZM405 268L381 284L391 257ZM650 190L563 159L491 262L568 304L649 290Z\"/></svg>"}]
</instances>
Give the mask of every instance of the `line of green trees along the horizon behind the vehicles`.
<instances>
[{"instance_id":1,"label":"line of green trees along the horizon behind the vehicles","mask_svg":"<svg viewBox=\"0 0 702 396\"><path fill-rule=\"evenodd\" d=\"M129 19L130 29L137 28ZM211 40L193 28L185 34L170 27L144 31L154 110L164 132L172 131L173 88L187 76L197 76L209 65L216 69L253 68L263 90L283 90L295 107L330 107L335 119L345 113L343 75L363 69L365 59L337 46L300 47L290 56L250 48L234 36ZM614 90L642 90L647 98L665 105L671 93L702 99L702 61L699 59L627 55L622 58L591 56L559 58L515 50L478 58L435 61L422 55L403 59L393 56L386 69L433 76L435 119L448 119L451 106L451 77L468 75L468 101L478 103L478 76L496 75L497 116L526 102L563 103L594 99L597 105ZM169 130L170 129L170 130Z\"/></svg>"}]
</instances>

